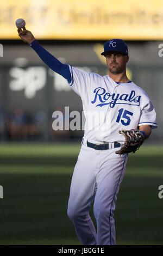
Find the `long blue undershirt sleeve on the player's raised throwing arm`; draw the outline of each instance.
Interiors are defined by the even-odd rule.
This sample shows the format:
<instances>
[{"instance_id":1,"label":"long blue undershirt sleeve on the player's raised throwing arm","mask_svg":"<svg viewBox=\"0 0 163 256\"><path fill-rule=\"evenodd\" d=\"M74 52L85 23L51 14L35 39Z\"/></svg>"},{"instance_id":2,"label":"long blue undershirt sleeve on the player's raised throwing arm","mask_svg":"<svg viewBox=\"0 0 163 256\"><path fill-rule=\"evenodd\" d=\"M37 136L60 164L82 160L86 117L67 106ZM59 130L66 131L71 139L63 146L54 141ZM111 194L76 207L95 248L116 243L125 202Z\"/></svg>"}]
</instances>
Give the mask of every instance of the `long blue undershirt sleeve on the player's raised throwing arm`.
<instances>
[{"instance_id":1,"label":"long blue undershirt sleeve on the player's raised throwing arm","mask_svg":"<svg viewBox=\"0 0 163 256\"><path fill-rule=\"evenodd\" d=\"M59 75L63 76L68 83L71 83L72 77L69 66L61 63L57 58L55 58L51 53L45 50L37 40L34 40L30 47L39 55L42 61L53 71L57 72Z\"/></svg>"}]
</instances>

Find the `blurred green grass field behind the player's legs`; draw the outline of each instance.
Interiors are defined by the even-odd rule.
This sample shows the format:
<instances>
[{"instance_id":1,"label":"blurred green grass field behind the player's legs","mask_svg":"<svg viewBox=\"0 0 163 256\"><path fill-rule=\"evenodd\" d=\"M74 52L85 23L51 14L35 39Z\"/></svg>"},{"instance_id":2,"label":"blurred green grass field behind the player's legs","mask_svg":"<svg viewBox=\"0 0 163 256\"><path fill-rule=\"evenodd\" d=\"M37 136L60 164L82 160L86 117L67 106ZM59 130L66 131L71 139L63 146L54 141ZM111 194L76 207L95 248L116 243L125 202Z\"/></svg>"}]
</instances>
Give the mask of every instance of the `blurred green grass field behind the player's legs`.
<instances>
[{"instance_id":1,"label":"blurred green grass field behind the player's legs","mask_svg":"<svg viewBox=\"0 0 163 256\"><path fill-rule=\"evenodd\" d=\"M66 213L79 149L0 145L0 245L80 245ZM162 163L161 146L144 145L130 155L116 203L117 245L163 245Z\"/></svg>"}]
</instances>

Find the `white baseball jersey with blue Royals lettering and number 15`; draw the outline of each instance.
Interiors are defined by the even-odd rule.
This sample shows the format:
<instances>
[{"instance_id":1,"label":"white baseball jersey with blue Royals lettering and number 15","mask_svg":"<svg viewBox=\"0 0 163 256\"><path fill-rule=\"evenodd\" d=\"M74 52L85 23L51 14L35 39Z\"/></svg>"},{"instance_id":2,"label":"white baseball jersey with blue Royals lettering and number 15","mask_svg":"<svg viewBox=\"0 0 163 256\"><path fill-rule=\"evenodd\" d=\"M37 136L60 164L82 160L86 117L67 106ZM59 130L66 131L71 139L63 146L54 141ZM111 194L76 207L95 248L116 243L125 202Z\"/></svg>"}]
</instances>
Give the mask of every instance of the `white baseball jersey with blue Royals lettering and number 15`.
<instances>
[{"instance_id":1,"label":"white baseball jersey with blue Royals lettering and number 15","mask_svg":"<svg viewBox=\"0 0 163 256\"><path fill-rule=\"evenodd\" d=\"M123 142L119 130L157 127L156 113L146 92L135 83L116 83L108 75L85 72L69 65L71 88L83 102L84 138L93 143ZM90 113L95 113L94 119Z\"/></svg>"}]
</instances>

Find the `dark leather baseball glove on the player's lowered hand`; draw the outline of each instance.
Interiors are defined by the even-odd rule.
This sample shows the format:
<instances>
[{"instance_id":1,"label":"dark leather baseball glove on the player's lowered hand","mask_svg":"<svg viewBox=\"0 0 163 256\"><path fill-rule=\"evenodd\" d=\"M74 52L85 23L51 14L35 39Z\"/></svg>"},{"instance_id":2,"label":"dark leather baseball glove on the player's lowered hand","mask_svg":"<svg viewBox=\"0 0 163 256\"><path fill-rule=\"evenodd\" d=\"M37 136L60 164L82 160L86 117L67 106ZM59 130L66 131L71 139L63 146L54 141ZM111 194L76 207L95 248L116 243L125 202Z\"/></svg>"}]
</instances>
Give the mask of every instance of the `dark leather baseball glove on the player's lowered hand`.
<instances>
[{"instance_id":1,"label":"dark leather baseball glove on the player's lowered hand","mask_svg":"<svg viewBox=\"0 0 163 256\"><path fill-rule=\"evenodd\" d=\"M116 151L116 154L128 154L128 153L135 153L137 149L140 148L142 143L145 140L145 137L143 136L143 133L139 130L121 130L119 133L124 135L125 142L124 145L121 147L120 150Z\"/></svg>"}]
</instances>

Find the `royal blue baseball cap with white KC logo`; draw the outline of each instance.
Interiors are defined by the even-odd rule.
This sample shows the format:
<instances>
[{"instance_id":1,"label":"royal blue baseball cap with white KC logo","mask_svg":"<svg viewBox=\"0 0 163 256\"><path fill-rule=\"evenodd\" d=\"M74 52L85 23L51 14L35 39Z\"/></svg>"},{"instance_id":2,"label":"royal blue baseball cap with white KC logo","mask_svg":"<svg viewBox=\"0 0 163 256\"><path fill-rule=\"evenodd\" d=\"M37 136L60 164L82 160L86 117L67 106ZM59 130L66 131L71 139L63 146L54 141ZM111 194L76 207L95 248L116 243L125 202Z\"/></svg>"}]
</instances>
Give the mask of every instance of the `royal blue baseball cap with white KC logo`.
<instances>
[{"instance_id":1,"label":"royal blue baseball cap with white KC logo","mask_svg":"<svg viewBox=\"0 0 163 256\"><path fill-rule=\"evenodd\" d=\"M111 39L104 44L104 52L101 55L104 55L108 52L115 51L115 52L122 52L125 55L128 55L128 47L126 42L122 39Z\"/></svg>"}]
</instances>

